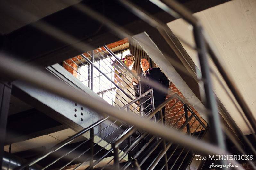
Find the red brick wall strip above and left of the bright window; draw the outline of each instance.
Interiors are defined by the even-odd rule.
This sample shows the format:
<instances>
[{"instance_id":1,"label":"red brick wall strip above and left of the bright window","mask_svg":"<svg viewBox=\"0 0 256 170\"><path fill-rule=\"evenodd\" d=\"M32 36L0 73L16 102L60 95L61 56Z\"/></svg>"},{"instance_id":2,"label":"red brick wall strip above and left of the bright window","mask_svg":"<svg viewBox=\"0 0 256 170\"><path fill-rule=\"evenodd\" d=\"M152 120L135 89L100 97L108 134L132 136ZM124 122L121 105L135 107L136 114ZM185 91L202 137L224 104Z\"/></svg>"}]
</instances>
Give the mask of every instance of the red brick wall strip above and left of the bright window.
<instances>
[{"instance_id":1,"label":"red brick wall strip above and left of the bright window","mask_svg":"<svg viewBox=\"0 0 256 170\"><path fill-rule=\"evenodd\" d=\"M117 42L114 42L114 43L111 43L111 44L108 44L107 45L107 47L109 48L109 49L112 49L112 48L114 48L114 47L117 47L117 46L119 46L119 45L123 45L123 44L125 44L125 43L128 43L129 41L128 41L128 38L124 38L123 40L120 40L120 41L117 41ZM98 48L97 49L99 52L101 52L102 50L103 51L105 51L105 49L103 48L103 47L100 47L100 48ZM90 53L90 52L89 52ZM94 53L98 53L96 50L94 50ZM85 53L83 53L86 57L89 57L89 55L85 52ZM78 56L76 56L78 59L82 59L82 57L80 56L80 55L78 55ZM67 63L67 64L69 64L69 65L67 65L67 64L63 64L63 67L67 70L67 71L69 71L73 76L75 76L75 77L77 77L77 66L76 66L76 64L74 64L71 60L73 60L74 62L76 62L77 61L77 59L75 58L75 57L73 57L73 58L71 58L71 59L67 59L67 60L65 60L65 62ZM71 68L72 67L72 68Z\"/></svg>"}]
</instances>

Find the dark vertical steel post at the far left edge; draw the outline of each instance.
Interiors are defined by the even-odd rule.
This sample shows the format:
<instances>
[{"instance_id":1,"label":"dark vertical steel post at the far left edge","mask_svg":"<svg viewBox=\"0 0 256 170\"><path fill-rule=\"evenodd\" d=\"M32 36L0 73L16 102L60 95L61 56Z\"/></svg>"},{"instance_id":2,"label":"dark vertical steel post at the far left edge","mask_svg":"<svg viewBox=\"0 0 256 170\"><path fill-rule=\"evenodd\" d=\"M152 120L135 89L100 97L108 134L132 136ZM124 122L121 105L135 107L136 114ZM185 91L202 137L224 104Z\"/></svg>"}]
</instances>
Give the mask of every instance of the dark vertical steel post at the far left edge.
<instances>
[{"instance_id":1,"label":"dark vertical steel post at the far left edge","mask_svg":"<svg viewBox=\"0 0 256 170\"><path fill-rule=\"evenodd\" d=\"M0 81L0 167L2 167L2 160L4 154L4 140L9 112L11 89L12 84L10 82Z\"/></svg>"}]
</instances>

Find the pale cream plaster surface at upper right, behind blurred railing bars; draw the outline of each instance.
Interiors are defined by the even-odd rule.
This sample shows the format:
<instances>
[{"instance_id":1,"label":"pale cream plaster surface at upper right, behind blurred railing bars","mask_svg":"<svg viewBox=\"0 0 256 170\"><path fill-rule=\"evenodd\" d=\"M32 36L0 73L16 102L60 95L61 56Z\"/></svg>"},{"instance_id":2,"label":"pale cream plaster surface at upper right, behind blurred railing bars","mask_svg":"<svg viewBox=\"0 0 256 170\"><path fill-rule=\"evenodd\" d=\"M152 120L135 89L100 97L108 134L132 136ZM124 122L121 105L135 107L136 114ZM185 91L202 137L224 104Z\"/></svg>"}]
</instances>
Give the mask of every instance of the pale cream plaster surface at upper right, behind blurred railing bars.
<instances>
[{"instance_id":1,"label":"pale cream plaster surface at upper right, behind blurred railing bars","mask_svg":"<svg viewBox=\"0 0 256 170\"><path fill-rule=\"evenodd\" d=\"M226 69L256 117L256 0L233 0L194 14L216 45ZM175 35L194 44L192 27L183 19L167 24ZM195 51L183 45L200 69ZM216 68L210 63L211 68ZM214 92L244 134L250 134L235 105L213 77Z\"/></svg>"}]
</instances>

